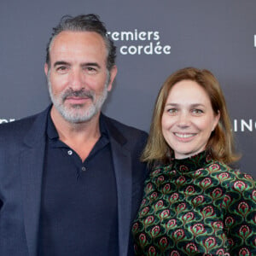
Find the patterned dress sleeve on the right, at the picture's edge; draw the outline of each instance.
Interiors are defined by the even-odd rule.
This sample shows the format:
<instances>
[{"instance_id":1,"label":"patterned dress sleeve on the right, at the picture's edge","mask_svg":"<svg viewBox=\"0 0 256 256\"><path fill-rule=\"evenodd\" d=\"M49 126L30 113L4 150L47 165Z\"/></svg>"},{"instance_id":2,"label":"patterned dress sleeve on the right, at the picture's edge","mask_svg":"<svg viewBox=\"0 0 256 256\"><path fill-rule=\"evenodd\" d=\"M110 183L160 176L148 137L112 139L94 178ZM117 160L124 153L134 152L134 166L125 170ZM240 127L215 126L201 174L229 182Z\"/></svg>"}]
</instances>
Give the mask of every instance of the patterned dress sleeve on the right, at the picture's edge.
<instances>
[{"instance_id":1,"label":"patterned dress sleeve on the right, at the picture's edge","mask_svg":"<svg viewBox=\"0 0 256 256\"><path fill-rule=\"evenodd\" d=\"M256 255L256 185L253 177L235 172L224 196L224 229L230 255Z\"/></svg>"}]
</instances>

